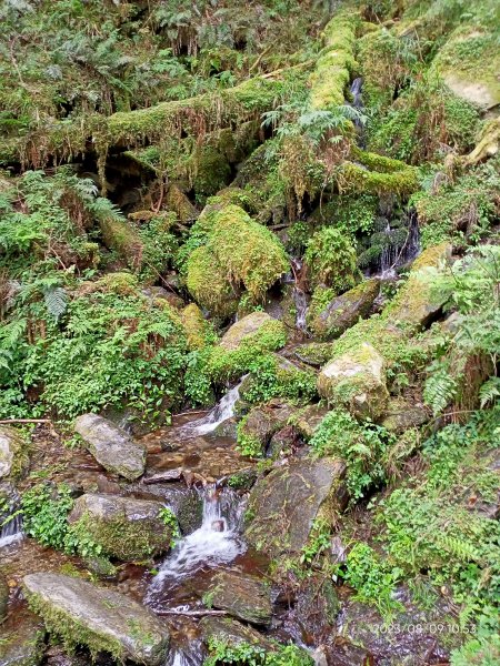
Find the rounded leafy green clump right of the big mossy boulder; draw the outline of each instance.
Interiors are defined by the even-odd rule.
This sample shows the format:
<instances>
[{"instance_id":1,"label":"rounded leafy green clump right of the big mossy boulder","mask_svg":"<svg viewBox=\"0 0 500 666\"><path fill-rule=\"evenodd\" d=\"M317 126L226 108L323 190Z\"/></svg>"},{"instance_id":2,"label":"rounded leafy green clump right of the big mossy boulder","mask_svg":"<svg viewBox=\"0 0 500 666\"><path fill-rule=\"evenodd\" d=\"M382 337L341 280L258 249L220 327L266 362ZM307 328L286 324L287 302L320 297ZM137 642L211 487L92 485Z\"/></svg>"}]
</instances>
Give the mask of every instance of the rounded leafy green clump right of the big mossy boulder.
<instances>
[{"instance_id":1,"label":"rounded leafy green clump right of the big mossy boulder","mask_svg":"<svg viewBox=\"0 0 500 666\"><path fill-rule=\"evenodd\" d=\"M338 229L326 226L313 234L304 254L311 281L337 293L354 286L358 280L356 250Z\"/></svg>"}]
</instances>

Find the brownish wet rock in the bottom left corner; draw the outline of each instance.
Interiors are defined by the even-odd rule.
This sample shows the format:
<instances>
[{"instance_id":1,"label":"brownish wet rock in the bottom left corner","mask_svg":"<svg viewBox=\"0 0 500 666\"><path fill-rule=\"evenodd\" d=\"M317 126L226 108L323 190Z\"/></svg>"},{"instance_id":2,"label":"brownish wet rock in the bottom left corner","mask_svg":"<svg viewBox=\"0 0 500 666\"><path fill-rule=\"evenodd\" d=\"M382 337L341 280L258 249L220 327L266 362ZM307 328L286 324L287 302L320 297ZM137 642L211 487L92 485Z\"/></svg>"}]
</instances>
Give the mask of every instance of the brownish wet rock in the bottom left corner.
<instances>
[{"instance_id":1,"label":"brownish wet rock in the bottom left corner","mask_svg":"<svg viewBox=\"0 0 500 666\"><path fill-rule=\"evenodd\" d=\"M1 666L38 666L43 658L44 636L43 623L36 615L17 613L14 623L2 627Z\"/></svg>"}]
</instances>

